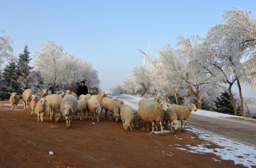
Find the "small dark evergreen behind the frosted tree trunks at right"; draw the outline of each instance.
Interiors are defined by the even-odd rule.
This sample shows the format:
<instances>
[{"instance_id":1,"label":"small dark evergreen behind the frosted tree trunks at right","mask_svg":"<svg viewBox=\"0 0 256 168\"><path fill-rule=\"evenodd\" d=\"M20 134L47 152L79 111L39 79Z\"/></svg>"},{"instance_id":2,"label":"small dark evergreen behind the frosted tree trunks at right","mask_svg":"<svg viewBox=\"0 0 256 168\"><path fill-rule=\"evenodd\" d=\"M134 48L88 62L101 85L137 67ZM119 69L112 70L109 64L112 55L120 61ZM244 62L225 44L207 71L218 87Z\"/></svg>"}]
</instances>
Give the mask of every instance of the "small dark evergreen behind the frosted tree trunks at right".
<instances>
[{"instance_id":1,"label":"small dark evergreen behind the frosted tree trunks at right","mask_svg":"<svg viewBox=\"0 0 256 168\"><path fill-rule=\"evenodd\" d=\"M234 109L232 106L232 101L230 98L230 95L228 94L227 91L221 92L220 97L216 98L217 100L214 101L215 103L215 111L216 112L221 112L224 114L234 114Z\"/></svg>"}]
</instances>

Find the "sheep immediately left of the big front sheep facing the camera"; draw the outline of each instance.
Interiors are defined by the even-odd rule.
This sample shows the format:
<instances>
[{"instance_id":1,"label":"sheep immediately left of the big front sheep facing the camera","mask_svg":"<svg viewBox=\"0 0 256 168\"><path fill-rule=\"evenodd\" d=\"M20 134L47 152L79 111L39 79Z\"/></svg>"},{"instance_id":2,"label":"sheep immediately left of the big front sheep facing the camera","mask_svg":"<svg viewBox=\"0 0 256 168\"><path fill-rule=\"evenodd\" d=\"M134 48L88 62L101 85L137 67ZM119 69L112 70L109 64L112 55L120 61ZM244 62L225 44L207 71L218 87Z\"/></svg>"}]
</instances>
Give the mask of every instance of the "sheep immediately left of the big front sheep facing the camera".
<instances>
[{"instance_id":1,"label":"sheep immediately left of the big front sheep facing the camera","mask_svg":"<svg viewBox=\"0 0 256 168\"><path fill-rule=\"evenodd\" d=\"M50 120L52 120L52 115L55 114L55 121L57 122L57 116L61 116L61 96L52 94L47 95L45 99L47 101L47 109L50 113Z\"/></svg>"}]
</instances>

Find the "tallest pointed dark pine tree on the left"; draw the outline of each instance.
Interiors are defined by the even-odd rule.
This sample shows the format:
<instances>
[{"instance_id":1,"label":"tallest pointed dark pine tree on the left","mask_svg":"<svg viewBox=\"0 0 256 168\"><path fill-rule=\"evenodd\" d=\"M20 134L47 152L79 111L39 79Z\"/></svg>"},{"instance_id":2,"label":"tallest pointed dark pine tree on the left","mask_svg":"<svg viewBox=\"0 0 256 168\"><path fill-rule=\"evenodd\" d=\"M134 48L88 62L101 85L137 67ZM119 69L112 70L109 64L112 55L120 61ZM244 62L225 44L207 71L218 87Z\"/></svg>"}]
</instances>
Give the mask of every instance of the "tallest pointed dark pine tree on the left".
<instances>
[{"instance_id":1,"label":"tallest pointed dark pine tree on the left","mask_svg":"<svg viewBox=\"0 0 256 168\"><path fill-rule=\"evenodd\" d=\"M23 90L28 89L27 77L29 76L29 71L32 69L32 67L29 66L30 60L32 59L29 57L28 46L25 45L24 51L19 54L19 60L17 62L17 76L22 84Z\"/></svg>"}]
</instances>

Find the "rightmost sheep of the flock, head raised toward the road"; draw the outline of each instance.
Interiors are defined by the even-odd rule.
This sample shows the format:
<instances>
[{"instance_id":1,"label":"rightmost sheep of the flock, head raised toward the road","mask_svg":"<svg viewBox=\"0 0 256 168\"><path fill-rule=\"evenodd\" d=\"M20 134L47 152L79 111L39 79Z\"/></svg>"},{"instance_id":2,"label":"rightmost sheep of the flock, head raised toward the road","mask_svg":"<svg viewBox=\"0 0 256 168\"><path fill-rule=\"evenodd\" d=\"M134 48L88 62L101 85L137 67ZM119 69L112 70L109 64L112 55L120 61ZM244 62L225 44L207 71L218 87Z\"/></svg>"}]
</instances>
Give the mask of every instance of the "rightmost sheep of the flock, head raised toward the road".
<instances>
[{"instance_id":1,"label":"rightmost sheep of the flock, head raised toward the road","mask_svg":"<svg viewBox=\"0 0 256 168\"><path fill-rule=\"evenodd\" d=\"M178 119L181 120L181 132L184 132L185 128L186 128L186 121L185 120L189 118L189 115L191 114L191 111L196 112L195 104L188 104L186 106L170 104L169 106L171 106L174 109ZM184 128L182 129L183 123L184 123Z\"/></svg>"}]
</instances>

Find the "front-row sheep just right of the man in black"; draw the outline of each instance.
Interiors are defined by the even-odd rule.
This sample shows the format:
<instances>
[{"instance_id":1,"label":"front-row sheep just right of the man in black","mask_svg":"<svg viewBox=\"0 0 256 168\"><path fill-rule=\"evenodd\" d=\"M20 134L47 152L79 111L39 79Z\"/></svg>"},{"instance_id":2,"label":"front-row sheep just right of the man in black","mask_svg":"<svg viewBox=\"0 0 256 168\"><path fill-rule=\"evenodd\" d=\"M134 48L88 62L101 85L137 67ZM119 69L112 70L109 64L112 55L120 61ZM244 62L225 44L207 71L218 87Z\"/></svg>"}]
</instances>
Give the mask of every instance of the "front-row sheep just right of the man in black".
<instances>
[{"instance_id":1,"label":"front-row sheep just right of the man in black","mask_svg":"<svg viewBox=\"0 0 256 168\"><path fill-rule=\"evenodd\" d=\"M102 111L99 101L90 98L87 102L87 109L92 115L92 120L94 120L94 118L97 118L97 122L99 123L99 118Z\"/></svg>"}]
</instances>

